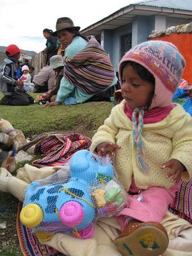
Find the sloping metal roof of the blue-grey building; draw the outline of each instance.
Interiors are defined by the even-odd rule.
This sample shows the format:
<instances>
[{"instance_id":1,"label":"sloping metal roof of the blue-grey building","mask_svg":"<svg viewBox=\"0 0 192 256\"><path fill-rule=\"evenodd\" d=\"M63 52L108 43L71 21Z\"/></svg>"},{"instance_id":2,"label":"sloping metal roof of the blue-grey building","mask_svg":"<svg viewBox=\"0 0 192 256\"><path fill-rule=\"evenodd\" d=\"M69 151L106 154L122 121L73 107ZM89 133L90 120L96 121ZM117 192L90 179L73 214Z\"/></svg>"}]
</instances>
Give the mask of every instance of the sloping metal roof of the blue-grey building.
<instances>
[{"instance_id":1,"label":"sloping metal roof of the blue-grey building","mask_svg":"<svg viewBox=\"0 0 192 256\"><path fill-rule=\"evenodd\" d=\"M116 29L132 22L136 15L166 15L166 17L191 19L192 0L143 0L129 4L98 22L81 30L84 36L100 35L104 29Z\"/></svg>"}]
</instances>

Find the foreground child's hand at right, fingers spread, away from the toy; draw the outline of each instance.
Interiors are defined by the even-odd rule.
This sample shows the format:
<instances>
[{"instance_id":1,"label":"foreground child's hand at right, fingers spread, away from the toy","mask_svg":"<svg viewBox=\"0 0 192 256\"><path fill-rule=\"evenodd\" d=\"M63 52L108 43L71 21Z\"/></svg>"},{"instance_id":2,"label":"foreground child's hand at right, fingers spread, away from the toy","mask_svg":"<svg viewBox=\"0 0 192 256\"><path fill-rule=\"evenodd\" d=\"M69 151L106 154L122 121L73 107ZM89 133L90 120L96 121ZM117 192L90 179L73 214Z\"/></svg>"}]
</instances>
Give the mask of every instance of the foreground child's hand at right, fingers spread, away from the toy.
<instances>
[{"instance_id":1,"label":"foreground child's hand at right, fingers spread, away from the toy","mask_svg":"<svg viewBox=\"0 0 192 256\"><path fill-rule=\"evenodd\" d=\"M166 177L169 178L170 176L173 175L172 177L172 181L175 182L175 183L178 183L179 180L180 180L180 176L181 176L181 173L186 171L186 168L185 166L180 163L177 159L171 159L170 161L164 163L162 166L161 166L162 169L165 169L165 168L170 168L172 169L167 175Z\"/></svg>"}]
</instances>

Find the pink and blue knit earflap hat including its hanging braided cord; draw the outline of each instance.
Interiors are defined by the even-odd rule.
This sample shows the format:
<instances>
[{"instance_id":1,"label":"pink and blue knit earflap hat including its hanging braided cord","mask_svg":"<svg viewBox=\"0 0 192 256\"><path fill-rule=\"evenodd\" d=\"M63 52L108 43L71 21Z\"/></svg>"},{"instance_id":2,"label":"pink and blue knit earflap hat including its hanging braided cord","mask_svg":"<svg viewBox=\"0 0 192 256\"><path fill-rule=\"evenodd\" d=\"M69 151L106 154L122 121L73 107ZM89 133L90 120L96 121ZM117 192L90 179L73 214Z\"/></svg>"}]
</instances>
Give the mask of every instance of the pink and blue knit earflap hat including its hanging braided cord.
<instances>
[{"instance_id":1,"label":"pink and blue knit earflap hat including its hanging braided cord","mask_svg":"<svg viewBox=\"0 0 192 256\"><path fill-rule=\"evenodd\" d=\"M119 65L120 83L122 83L122 64L134 61L145 67L155 77L154 98L150 104L152 108L164 108L172 103L172 96L185 66L185 60L175 45L164 41L148 41L136 45L125 53ZM140 170L148 172L148 165L143 159L143 143L141 134L143 129L144 108L136 108L132 113L133 140L137 152Z\"/></svg>"}]
</instances>

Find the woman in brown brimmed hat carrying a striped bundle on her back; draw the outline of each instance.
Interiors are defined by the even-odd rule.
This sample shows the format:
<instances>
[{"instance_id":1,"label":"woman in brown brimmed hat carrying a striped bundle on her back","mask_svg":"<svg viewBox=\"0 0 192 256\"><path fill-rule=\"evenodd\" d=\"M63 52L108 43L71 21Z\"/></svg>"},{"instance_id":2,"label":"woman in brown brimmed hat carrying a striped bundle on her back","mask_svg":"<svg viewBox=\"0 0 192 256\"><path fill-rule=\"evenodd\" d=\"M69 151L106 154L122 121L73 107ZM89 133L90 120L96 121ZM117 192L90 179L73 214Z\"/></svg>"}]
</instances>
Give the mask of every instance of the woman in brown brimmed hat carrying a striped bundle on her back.
<instances>
[{"instance_id":1,"label":"woman in brown brimmed hat carrying a striped bundle on her back","mask_svg":"<svg viewBox=\"0 0 192 256\"><path fill-rule=\"evenodd\" d=\"M68 17L56 22L61 46L65 49L65 72L55 102L47 106L77 104L87 101L108 100L115 92L117 78L108 54L91 36L85 38Z\"/></svg>"}]
</instances>

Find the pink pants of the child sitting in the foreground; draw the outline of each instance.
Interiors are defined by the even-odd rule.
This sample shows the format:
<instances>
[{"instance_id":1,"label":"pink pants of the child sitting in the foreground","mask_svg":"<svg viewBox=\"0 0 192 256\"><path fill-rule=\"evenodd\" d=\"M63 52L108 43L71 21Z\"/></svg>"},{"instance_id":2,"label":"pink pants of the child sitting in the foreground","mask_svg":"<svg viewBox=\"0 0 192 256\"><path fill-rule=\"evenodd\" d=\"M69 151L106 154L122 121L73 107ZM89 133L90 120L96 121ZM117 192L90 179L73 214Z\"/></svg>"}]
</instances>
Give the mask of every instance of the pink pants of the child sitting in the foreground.
<instances>
[{"instance_id":1,"label":"pink pants of the child sitting in the foreground","mask_svg":"<svg viewBox=\"0 0 192 256\"><path fill-rule=\"evenodd\" d=\"M175 199L175 193L179 191L179 188L180 182L169 189L150 187L141 192L142 202L138 201L139 195L128 195L126 207L117 215L119 216L118 221L120 222L121 228L124 229L125 219L127 217L143 222L157 221L161 223L168 206L172 204ZM132 179L129 192L136 193L139 190Z\"/></svg>"}]
</instances>

